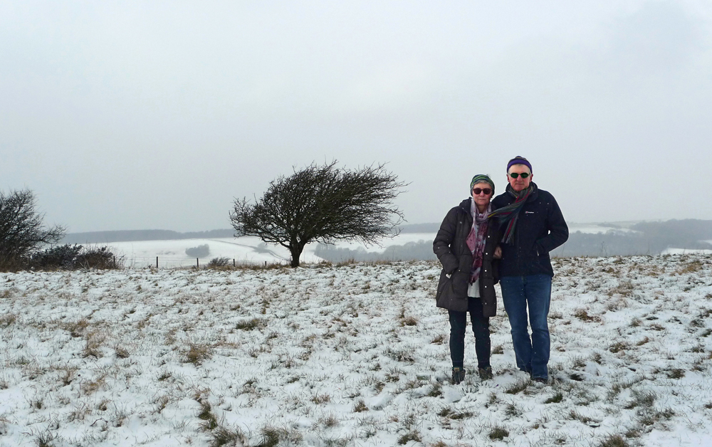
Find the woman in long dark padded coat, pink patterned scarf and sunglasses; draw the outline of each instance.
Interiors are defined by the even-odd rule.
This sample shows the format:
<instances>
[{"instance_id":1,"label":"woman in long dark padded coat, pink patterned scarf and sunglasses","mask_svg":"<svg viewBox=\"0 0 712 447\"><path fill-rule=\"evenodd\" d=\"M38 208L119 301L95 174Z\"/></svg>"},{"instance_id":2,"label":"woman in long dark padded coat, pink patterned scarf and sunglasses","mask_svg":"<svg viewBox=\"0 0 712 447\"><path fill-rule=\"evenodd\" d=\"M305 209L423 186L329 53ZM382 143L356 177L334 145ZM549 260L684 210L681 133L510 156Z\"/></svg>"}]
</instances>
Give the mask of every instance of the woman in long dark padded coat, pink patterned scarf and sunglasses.
<instances>
[{"instance_id":1,"label":"woman in long dark padded coat, pink patterned scarf and sunglasses","mask_svg":"<svg viewBox=\"0 0 712 447\"><path fill-rule=\"evenodd\" d=\"M494 182L479 174L470 182L471 197L451 209L440 226L433 251L443 270L436 302L448 310L452 383L465 378L464 352L467 313L475 335L477 371L482 380L493 377L490 365L489 317L497 312L494 259L499 257L497 228L487 220Z\"/></svg>"}]
</instances>

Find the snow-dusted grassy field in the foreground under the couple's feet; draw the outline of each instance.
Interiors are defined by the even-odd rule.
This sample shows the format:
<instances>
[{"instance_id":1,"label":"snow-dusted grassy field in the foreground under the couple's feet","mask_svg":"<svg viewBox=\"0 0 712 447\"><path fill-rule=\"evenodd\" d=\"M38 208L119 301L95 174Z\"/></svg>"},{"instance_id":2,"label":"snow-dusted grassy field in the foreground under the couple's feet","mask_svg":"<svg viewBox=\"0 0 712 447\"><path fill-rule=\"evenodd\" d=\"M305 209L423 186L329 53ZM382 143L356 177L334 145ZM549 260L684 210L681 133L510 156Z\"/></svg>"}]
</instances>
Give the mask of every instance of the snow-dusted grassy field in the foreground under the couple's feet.
<instances>
[{"instance_id":1,"label":"snow-dusted grassy field in the foreground under the couple's feet","mask_svg":"<svg viewBox=\"0 0 712 447\"><path fill-rule=\"evenodd\" d=\"M712 257L555 270L547 386L501 306L447 382L436 263L1 273L0 446L712 446Z\"/></svg>"}]
</instances>

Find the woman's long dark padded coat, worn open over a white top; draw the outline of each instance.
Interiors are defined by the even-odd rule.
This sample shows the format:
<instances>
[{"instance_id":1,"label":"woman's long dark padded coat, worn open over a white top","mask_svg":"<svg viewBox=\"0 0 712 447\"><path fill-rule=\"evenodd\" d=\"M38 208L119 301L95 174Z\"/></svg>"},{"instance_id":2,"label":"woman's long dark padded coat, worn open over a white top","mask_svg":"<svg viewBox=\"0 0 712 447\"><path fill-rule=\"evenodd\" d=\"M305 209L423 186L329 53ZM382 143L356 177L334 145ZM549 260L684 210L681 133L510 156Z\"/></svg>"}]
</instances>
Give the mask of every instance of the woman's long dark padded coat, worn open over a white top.
<instances>
[{"instance_id":1,"label":"woman's long dark padded coat, worn open over a white top","mask_svg":"<svg viewBox=\"0 0 712 447\"><path fill-rule=\"evenodd\" d=\"M433 241L433 251L443 266L436 295L437 307L459 312L468 310L467 288L472 270L472 252L467 246L467 236L472 228L471 201L465 199L448 212ZM494 290L498 282L497 266L492 257L498 243L496 227L488 225L480 270L480 300L485 317L493 317L497 313ZM450 278L447 275L451 275Z\"/></svg>"}]
</instances>

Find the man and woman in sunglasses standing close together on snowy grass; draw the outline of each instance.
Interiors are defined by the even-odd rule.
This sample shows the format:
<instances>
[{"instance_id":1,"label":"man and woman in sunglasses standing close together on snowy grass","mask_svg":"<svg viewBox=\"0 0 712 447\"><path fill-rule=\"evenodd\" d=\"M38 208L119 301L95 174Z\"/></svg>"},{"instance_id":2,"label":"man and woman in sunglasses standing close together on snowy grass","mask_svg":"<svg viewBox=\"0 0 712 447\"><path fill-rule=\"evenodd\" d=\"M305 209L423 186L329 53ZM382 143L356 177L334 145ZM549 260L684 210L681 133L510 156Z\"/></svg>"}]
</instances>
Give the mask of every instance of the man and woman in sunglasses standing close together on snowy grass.
<instances>
[{"instance_id":1,"label":"man and woman in sunglasses standing close together on snowy grass","mask_svg":"<svg viewBox=\"0 0 712 447\"><path fill-rule=\"evenodd\" d=\"M448 310L452 382L464 380L467 314L475 335L479 377L493 377L489 317L496 315L499 282L511 325L517 367L535 382L548 382L550 339L547 315L554 275L549 252L569 230L554 197L532 182L524 157L507 164L507 189L494 196L494 182L479 174L471 197L451 209L433 242L443 270L436 302ZM528 331L531 326L531 337Z\"/></svg>"}]
</instances>

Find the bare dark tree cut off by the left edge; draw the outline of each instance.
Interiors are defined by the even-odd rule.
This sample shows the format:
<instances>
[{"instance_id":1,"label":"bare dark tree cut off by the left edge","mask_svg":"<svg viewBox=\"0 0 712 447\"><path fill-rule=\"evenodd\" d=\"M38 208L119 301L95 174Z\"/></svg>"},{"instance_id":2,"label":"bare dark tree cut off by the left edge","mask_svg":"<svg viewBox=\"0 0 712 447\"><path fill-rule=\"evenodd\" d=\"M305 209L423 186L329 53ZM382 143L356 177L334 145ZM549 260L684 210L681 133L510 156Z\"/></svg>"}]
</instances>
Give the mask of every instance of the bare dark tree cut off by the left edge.
<instances>
[{"instance_id":1,"label":"bare dark tree cut off by the left edge","mask_svg":"<svg viewBox=\"0 0 712 447\"><path fill-rule=\"evenodd\" d=\"M43 225L32 191L0 192L0 267L18 265L42 246L57 243L65 228Z\"/></svg>"}]
</instances>

